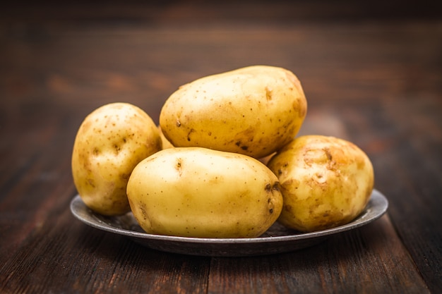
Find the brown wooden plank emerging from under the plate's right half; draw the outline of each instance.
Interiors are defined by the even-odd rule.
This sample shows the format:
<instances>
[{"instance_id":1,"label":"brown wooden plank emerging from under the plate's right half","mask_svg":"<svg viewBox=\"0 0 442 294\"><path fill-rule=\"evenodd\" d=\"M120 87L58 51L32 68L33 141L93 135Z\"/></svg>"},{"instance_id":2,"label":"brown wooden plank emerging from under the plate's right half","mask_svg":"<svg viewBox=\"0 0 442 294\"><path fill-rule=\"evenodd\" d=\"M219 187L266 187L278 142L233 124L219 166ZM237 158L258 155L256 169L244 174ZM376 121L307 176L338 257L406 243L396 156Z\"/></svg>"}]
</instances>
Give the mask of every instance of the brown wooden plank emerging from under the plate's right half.
<instances>
[{"instance_id":1,"label":"brown wooden plank emerging from under the plate's right half","mask_svg":"<svg viewBox=\"0 0 442 294\"><path fill-rule=\"evenodd\" d=\"M208 293L429 293L388 216L299 252L213 259L209 286Z\"/></svg>"}]
</instances>

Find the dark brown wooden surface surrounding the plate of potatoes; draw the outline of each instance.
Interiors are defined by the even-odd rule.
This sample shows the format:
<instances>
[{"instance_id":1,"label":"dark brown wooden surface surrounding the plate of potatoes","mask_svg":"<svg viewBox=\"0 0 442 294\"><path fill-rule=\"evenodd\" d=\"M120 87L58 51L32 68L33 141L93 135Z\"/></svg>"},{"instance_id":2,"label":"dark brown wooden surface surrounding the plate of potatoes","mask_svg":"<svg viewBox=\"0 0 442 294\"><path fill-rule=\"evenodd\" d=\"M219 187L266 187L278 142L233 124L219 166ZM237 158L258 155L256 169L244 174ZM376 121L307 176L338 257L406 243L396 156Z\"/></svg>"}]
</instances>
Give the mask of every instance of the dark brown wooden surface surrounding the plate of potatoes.
<instances>
[{"instance_id":1,"label":"dark brown wooden surface surrounding the plate of potatoes","mask_svg":"<svg viewBox=\"0 0 442 294\"><path fill-rule=\"evenodd\" d=\"M431 1L305 2L2 9L0 293L442 293L440 14ZM385 216L240 258L148 250L74 219L71 148L90 111L131 102L157 122L179 85L252 64L298 75L301 134L369 154Z\"/></svg>"}]
</instances>

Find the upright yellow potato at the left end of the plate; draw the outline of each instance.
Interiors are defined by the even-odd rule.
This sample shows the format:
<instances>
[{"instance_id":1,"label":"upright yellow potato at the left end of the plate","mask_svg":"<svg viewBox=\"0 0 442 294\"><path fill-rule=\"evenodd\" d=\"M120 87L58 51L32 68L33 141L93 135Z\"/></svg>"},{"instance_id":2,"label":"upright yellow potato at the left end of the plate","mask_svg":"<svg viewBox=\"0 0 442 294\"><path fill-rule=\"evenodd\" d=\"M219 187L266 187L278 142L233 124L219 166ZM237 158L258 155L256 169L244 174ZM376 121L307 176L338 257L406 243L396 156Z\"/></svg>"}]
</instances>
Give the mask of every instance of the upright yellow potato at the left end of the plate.
<instances>
[{"instance_id":1,"label":"upright yellow potato at the left end of the plate","mask_svg":"<svg viewBox=\"0 0 442 294\"><path fill-rule=\"evenodd\" d=\"M138 162L160 149L157 125L137 106L113 103L92 111L78 129L71 161L85 205L107 216L129 212L129 176Z\"/></svg>"}]
</instances>

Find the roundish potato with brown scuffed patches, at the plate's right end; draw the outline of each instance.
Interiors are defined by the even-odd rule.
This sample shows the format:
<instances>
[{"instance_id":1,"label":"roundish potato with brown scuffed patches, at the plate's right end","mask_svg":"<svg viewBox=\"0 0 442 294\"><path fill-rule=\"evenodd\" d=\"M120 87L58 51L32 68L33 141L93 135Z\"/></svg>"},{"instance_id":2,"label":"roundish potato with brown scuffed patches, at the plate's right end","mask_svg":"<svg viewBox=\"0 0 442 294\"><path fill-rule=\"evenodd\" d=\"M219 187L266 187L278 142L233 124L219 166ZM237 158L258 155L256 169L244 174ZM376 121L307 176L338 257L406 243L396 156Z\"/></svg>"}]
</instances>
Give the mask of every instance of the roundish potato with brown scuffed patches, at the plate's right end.
<instances>
[{"instance_id":1,"label":"roundish potato with brown scuffed patches, at the plate's right end","mask_svg":"<svg viewBox=\"0 0 442 294\"><path fill-rule=\"evenodd\" d=\"M352 221L374 187L369 157L336 137L304 135L268 162L280 180L284 207L280 223L297 231L333 228Z\"/></svg>"}]
</instances>

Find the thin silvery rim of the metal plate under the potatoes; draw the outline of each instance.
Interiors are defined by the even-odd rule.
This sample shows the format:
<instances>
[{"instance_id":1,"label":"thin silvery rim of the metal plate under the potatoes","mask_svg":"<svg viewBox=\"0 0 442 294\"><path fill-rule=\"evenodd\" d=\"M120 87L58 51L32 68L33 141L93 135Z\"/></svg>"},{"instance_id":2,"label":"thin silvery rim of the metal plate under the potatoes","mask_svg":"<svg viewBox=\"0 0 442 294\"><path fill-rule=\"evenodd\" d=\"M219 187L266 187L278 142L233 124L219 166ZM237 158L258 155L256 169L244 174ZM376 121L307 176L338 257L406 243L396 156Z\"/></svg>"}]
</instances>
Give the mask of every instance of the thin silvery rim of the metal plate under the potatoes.
<instances>
[{"instance_id":1,"label":"thin silvery rim of the metal plate under the potatoes","mask_svg":"<svg viewBox=\"0 0 442 294\"><path fill-rule=\"evenodd\" d=\"M370 204L370 205L369 205ZM364 216L366 214L369 214L367 212L367 209L376 208L376 212L374 212L373 215L366 219ZM361 226L365 226L368 223L371 223L373 221L376 221L376 219L381 218L383 214L386 213L388 209L388 200L385 195L383 195L381 192L379 192L376 189L373 189L370 195L369 202L367 203L366 207L364 208L364 211L357 216L356 219L353 221L350 221L350 223L346 223L342 226L337 226L335 228L328 228L321 231L314 231L310 233L296 233L292 235L277 235L277 236L265 236L265 237L255 237L255 238L195 238L195 237L182 237L182 236L175 236L175 235L157 235L157 234L150 234L150 233L144 233L144 232L138 232L138 231L131 231L127 230L125 228L117 228L115 226L109 225L109 223L104 223L102 221L90 221L89 219L83 218L79 214L78 209L86 209L92 214L95 214L95 212L92 212L88 207L85 206L83 200L81 199L80 195L76 195L71 200L70 204L71 213L73 216L76 217L79 221L82 221L83 223L87 224L88 226L91 226L93 228L100 229L102 231L107 231L110 233L116 233L118 235L124 235L129 238L139 238L139 239L145 239L145 240L161 240L161 241L168 241L168 242L179 242L179 243L201 243L201 244L238 244L238 243L244 243L244 244L253 244L253 243L278 243L278 242L289 242L289 241L295 241L295 240L303 240L303 239L311 239L311 238L319 238L324 237L327 235L333 235L336 233L341 233L344 231L350 231L354 228L359 228ZM131 214L131 212L128 212L128 214ZM119 217L119 216L116 216ZM121 217L121 216L120 216Z\"/></svg>"}]
</instances>

